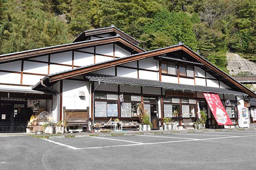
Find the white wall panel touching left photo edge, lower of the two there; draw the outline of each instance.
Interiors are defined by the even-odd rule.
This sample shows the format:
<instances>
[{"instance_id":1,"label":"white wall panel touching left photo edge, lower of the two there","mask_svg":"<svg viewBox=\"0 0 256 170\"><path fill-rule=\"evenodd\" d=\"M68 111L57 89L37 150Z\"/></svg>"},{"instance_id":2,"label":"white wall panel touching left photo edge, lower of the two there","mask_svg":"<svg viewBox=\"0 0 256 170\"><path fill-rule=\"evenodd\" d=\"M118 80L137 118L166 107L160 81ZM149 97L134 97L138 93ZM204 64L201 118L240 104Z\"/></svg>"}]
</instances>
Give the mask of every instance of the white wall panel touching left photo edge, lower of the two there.
<instances>
[{"instance_id":1,"label":"white wall panel touching left photo edge, lower of the two there","mask_svg":"<svg viewBox=\"0 0 256 170\"><path fill-rule=\"evenodd\" d=\"M0 83L20 84L21 74L0 72Z\"/></svg>"}]
</instances>

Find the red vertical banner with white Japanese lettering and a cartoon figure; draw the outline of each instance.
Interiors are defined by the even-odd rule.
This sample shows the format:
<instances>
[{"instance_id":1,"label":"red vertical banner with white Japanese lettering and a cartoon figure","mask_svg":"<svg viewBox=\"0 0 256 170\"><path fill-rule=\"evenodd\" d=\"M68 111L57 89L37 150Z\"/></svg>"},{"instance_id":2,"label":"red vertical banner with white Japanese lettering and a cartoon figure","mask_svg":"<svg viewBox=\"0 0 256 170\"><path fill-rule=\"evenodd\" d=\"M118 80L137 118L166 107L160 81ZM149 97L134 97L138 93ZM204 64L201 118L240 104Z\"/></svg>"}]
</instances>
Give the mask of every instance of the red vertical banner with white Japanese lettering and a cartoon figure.
<instances>
[{"instance_id":1,"label":"red vertical banner with white Japanese lettering and a cartoon figure","mask_svg":"<svg viewBox=\"0 0 256 170\"><path fill-rule=\"evenodd\" d=\"M218 125L233 125L217 94L203 93Z\"/></svg>"}]
</instances>

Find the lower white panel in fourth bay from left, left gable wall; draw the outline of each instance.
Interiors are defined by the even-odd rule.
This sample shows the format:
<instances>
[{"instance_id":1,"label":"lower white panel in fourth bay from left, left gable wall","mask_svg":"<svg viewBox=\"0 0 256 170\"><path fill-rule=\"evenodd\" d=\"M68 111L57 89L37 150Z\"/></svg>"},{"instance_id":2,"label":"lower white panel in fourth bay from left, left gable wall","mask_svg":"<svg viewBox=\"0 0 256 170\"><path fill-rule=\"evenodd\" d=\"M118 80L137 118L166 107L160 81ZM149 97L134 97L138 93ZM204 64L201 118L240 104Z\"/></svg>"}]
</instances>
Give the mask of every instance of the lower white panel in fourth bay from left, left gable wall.
<instances>
[{"instance_id":1,"label":"lower white panel in fourth bay from left, left gable wall","mask_svg":"<svg viewBox=\"0 0 256 170\"><path fill-rule=\"evenodd\" d=\"M94 54L74 52L74 66L87 66L94 64Z\"/></svg>"}]
</instances>

